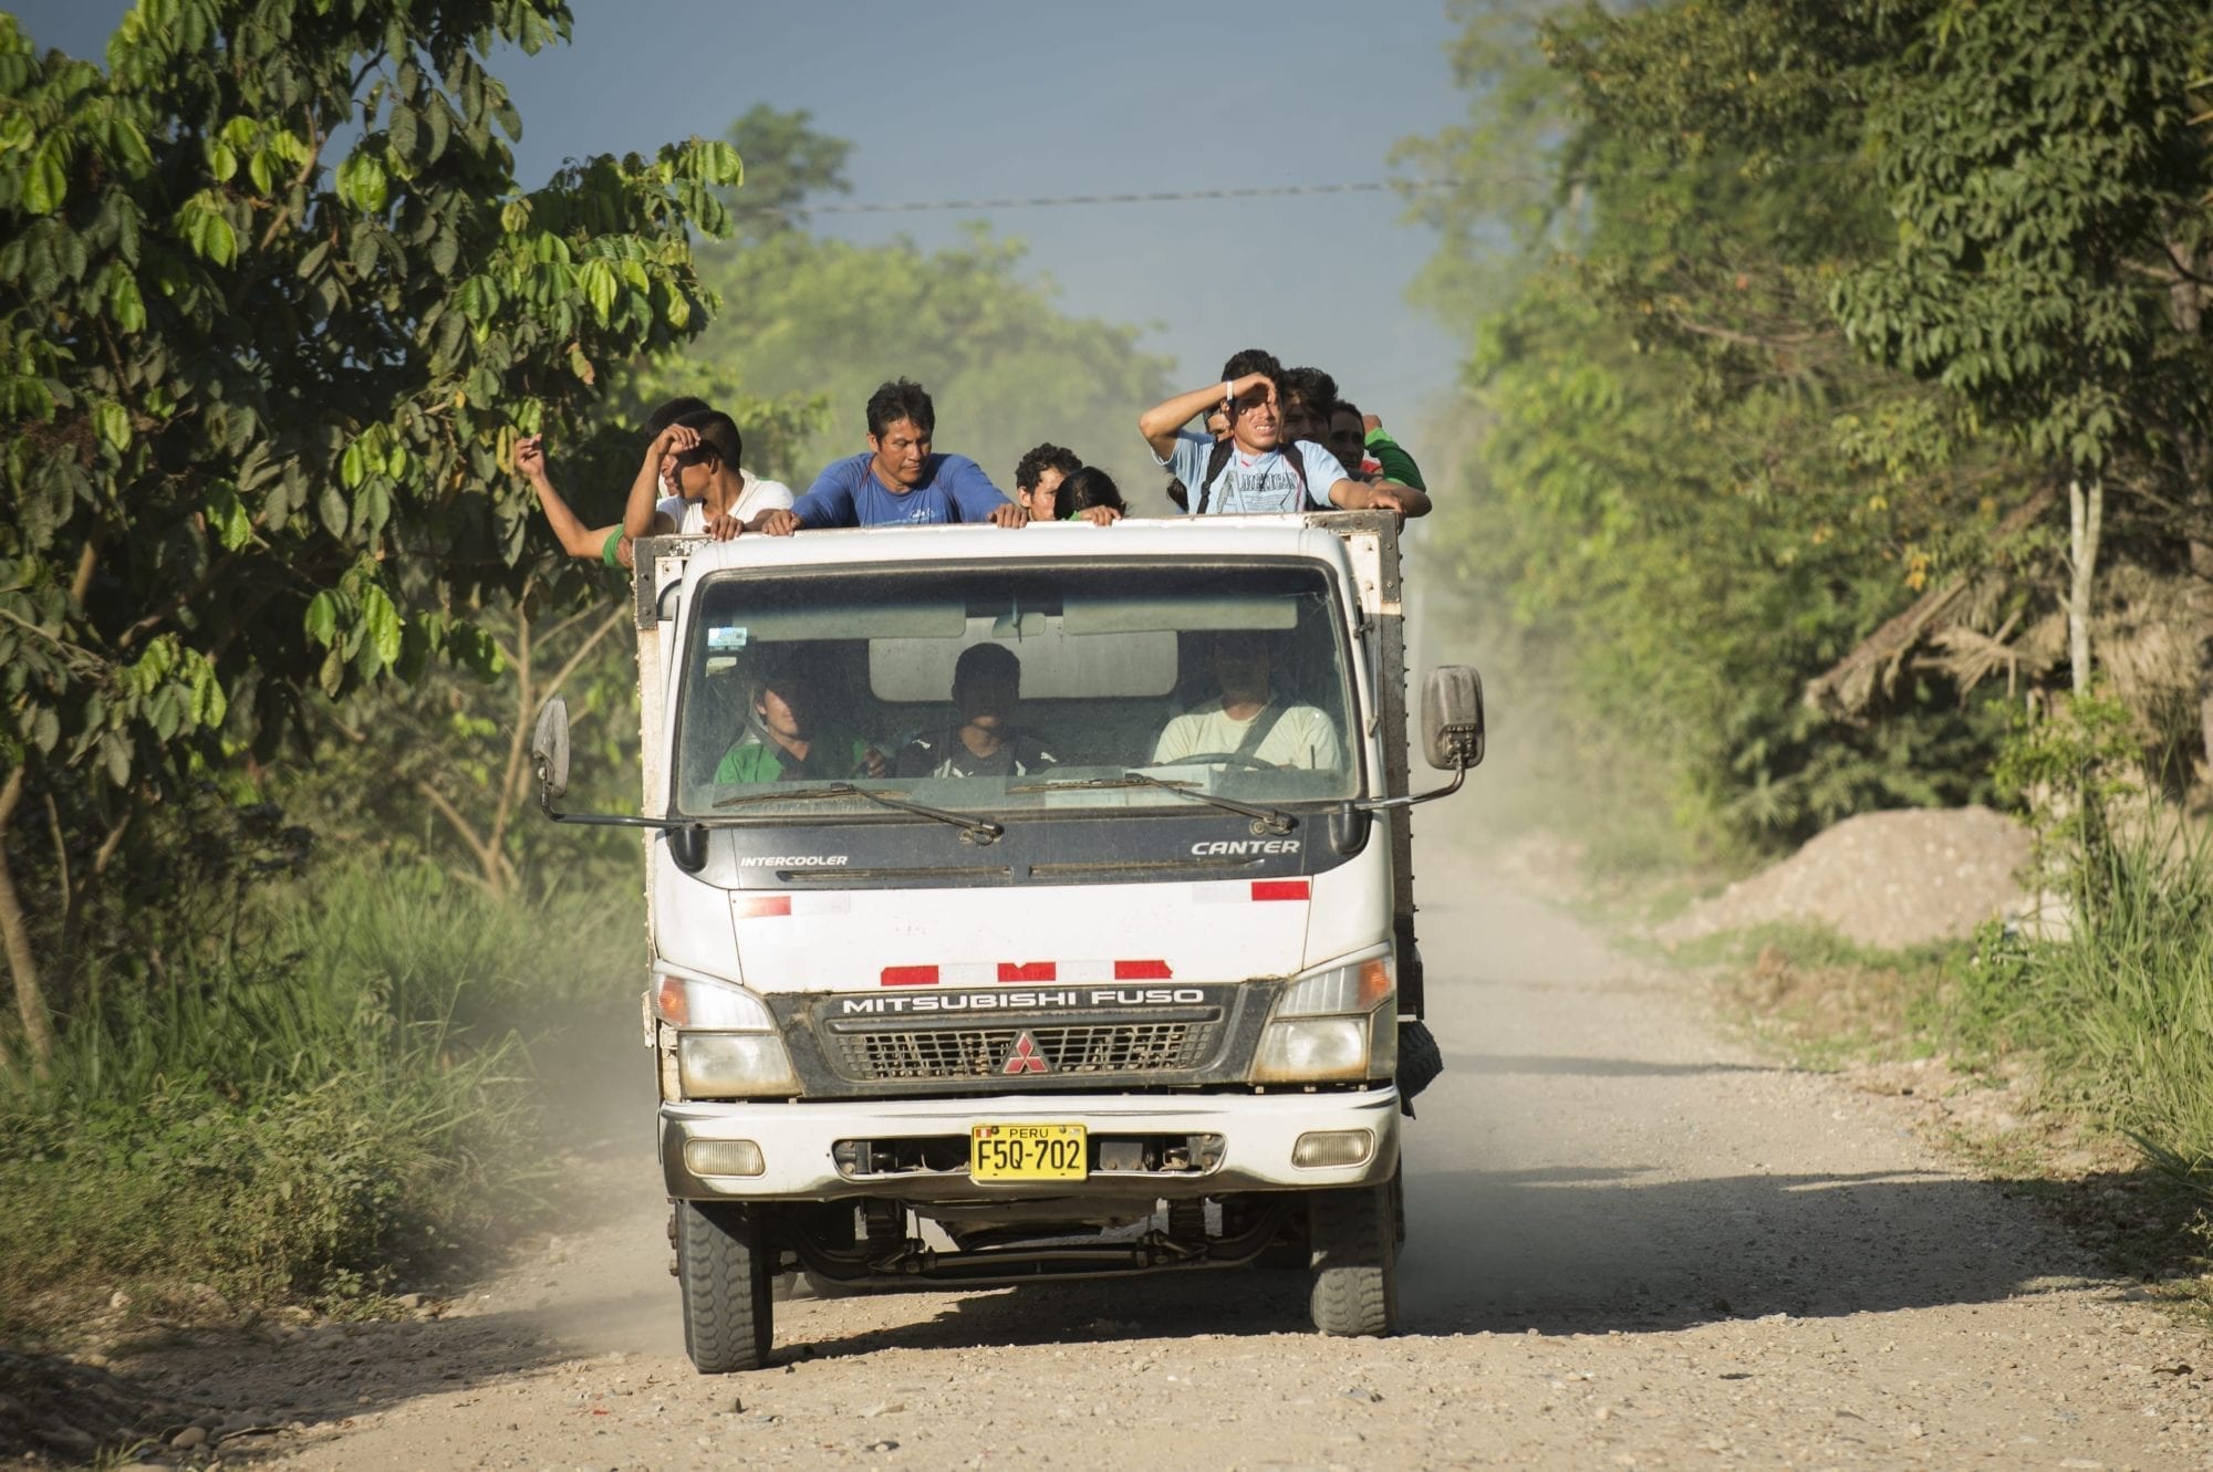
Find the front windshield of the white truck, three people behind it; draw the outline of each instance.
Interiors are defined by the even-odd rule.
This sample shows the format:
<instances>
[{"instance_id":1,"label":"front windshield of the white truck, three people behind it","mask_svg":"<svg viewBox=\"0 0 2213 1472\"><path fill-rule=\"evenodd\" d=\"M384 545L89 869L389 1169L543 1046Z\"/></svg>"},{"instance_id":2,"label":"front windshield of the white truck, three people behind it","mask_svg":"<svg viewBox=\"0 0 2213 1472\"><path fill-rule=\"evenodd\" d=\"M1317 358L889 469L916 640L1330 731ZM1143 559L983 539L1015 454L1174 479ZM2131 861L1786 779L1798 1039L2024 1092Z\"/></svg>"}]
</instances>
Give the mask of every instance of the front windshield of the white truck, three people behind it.
<instances>
[{"instance_id":1,"label":"front windshield of the white truck, three people behind it","mask_svg":"<svg viewBox=\"0 0 2213 1472\"><path fill-rule=\"evenodd\" d=\"M702 818L912 822L870 793L1029 818L1359 791L1346 628L1301 561L717 572L677 679L675 809Z\"/></svg>"}]
</instances>

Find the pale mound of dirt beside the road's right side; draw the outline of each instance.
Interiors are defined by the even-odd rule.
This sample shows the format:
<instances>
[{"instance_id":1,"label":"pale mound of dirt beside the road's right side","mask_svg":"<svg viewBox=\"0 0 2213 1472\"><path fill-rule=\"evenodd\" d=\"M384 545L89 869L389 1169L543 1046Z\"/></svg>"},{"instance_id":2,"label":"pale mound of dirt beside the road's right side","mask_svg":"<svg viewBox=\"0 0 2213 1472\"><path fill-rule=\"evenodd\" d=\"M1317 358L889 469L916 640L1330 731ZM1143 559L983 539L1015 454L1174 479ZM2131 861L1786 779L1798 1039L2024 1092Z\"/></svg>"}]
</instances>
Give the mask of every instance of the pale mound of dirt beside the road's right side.
<instances>
[{"instance_id":1,"label":"pale mound of dirt beside the road's right side","mask_svg":"<svg viewBox=\"0 0 2213 1472\"><path fill-rule=\"evenodd\" d=\"M1861 946L1961 939L2025 904L2029 835L1987 807L1846 818L1804 849L1660 926L1662 942L1819 922Z\"/></svg>"}]
</instances>

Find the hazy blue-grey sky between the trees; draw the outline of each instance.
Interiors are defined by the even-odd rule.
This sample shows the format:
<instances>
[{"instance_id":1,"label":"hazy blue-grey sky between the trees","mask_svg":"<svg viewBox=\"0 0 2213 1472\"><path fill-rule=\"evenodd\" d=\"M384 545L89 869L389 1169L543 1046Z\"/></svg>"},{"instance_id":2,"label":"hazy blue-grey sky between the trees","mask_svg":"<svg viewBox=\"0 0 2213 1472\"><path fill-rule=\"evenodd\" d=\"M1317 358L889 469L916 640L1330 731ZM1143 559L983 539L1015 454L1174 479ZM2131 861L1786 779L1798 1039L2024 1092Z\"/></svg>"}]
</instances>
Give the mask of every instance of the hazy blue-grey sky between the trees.
<instances>
[{"instance_id":1,"label":"hazy blue-grey sky between the trees","mask_svg":"<svg viewBox=\"0 0 2213 1472\"><path fill-rule=\"evenodd\" d=\"M40 46L100 57L122 0L18 4ZM755 102L852 139L848 203L1357 183L1465 113L1445 0L573 0L575 38L493 62L522 113L524 183L564 157L717 137ZM1080 316L1146 327L1197 387L1239 347L1315 362L1405 422L1456 351L1407 307L1432 236L1392 194L991 212L819 214L925 248L965 219L1031 245ZM885 365L927 382L927 365Z\"/></svg>"}]
</instances>

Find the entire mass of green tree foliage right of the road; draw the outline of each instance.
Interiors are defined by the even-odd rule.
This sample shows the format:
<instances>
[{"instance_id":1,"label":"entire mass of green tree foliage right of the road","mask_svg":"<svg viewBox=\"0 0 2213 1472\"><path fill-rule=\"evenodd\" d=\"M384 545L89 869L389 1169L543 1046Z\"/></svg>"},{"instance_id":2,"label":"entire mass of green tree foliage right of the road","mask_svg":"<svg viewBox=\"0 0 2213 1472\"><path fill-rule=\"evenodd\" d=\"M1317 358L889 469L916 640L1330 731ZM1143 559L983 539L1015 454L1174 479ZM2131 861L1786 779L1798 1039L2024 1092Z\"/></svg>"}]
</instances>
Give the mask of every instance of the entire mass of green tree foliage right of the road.
<instances>
[{"instance_id":1,"label":"entire mass of green tree foliage right of the road","mask_svg":"<svg viewBox=\"0 0 2213 1472\"><path fill-rule=\"evenodd\" d=\"M2195 557L2202 7L1461 18L1469 124L1401 161L1465 181L1430 206L1485 429L1463 577L1565 639L1578 698L1708 822L1981 793L1992 687L1912 650L1928 621L1852 721L1799 692L1928 599L1992 641L2040 628L2056 528L2016 513L2069 464L2136 493L2140 564Z\"/></svg>"}]
</instances>

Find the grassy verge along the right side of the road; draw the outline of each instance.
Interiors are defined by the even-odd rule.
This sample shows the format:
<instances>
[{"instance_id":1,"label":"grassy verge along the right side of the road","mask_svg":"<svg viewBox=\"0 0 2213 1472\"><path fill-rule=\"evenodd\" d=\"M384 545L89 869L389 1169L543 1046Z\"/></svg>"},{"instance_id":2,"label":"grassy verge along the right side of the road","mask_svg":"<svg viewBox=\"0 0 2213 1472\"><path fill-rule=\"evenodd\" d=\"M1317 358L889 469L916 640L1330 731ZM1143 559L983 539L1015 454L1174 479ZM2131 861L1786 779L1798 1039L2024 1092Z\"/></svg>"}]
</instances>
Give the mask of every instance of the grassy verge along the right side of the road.
<instances>
[{"instance_id":1,"label":"grassy verge along the right side of the road","mask_svg":"<svg viewBox=\"0 0 2213 1472\"><path fill-rule=\"evenodd\" d=\"M2213 1311L2213 849L2116 835L2067 935L1888 953L1766 926L1671 950L1801 1068L1943 1110L1947 1149L2049 1205L2120 1273Z\"/></svg>"}]
</instances>

